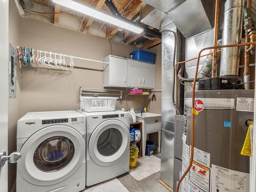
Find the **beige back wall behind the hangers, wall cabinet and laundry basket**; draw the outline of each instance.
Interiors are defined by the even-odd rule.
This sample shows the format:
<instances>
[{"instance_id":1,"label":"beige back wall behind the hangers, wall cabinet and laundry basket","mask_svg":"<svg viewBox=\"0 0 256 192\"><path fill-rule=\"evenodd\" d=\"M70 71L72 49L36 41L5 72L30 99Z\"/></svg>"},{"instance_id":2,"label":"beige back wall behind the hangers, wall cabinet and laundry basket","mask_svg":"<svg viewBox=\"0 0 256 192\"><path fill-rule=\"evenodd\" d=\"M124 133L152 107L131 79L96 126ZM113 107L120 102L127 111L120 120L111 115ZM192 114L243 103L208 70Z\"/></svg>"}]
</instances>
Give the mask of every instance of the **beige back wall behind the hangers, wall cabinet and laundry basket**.
<instances>
[{"instance_id":1,"label":"beige back wall behind the hangers, wall cabinet and laundry basket","mask_svg":"<svg viewBox=\"0 0 256 192\"><path fill-rule=\"evenodd\" d=\"M111 54L109 40L93 37L68 29L35 22L22 18L20 27L20 45L35 49L48 50L78 57L103 60ZM134 47L112 43L113 55L129 57ZM157 87L159 87L159 49L158 63L156 64ZM69 61L68 61L69 62ZM75 66L102 69L102 65L75 60ZM47 69L22 69L21 115L29 111L75 110L79 108L78 88L102 88L102 72L74 69L72 72L62 72ZM126 90L123 91L126 93ZM140 109L146 103L146 97L125 96L129 108ZM160 99L160 97L158 97ZM151 110L158 107L151 106ZM128 109L126 101L120 100L117 109ZM161 105L159 104L159 107ZM157 112L160 112L158 109Z\"/></svg>"}]
</instances>

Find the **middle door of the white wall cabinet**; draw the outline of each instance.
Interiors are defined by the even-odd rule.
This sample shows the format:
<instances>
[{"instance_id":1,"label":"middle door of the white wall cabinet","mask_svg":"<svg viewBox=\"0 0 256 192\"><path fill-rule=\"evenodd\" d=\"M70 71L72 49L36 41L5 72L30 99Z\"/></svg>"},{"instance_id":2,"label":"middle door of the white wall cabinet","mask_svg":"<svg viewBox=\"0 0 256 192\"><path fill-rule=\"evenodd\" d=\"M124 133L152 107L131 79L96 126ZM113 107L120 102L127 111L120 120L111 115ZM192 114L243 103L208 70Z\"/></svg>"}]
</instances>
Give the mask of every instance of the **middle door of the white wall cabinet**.
<instances>
[{"instance_id":1,"label":"middle door of the white wall cabinet","mask_svg":"<svg viewBox=\"0 0 256 192\"><path fill-rule=\"evenodd\" d=\"M128 78L127 86L128 87L141 87L141 63L138 61L128 60Z\"/></svg>"}]
</instances>

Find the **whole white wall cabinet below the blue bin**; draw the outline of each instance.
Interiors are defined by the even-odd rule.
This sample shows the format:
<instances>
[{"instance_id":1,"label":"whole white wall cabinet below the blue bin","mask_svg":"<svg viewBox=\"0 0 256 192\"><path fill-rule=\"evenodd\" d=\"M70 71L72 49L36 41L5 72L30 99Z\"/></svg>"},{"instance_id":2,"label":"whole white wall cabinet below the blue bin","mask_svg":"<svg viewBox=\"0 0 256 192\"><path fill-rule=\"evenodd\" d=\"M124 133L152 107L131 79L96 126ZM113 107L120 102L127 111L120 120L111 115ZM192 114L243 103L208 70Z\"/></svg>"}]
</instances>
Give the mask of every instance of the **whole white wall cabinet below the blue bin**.
<instances>
[{"instance_id":1,"label":"whole white wall cabinet below the blue bin","mask_svg":"<svg viewBox=\"0 0 256 192\"><path fill-rule=\"evenodd\" d=\"M154 89L155 65L112 55L104 61L104 87Z\"/></svg>"}]
</instances>

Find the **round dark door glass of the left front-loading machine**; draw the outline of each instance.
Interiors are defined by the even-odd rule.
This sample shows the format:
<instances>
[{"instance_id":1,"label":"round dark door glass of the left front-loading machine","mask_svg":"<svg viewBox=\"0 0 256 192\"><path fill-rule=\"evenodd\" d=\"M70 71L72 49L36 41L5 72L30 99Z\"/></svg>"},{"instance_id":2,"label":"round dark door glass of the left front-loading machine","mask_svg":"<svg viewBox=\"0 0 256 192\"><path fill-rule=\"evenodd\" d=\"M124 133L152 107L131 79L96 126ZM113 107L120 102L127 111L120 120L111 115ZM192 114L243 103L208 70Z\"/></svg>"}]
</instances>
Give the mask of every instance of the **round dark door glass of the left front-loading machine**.
<instances>
[{"instance_id":1,"label":"round dark door glass of the left front-loading machine","mask_svg":"<svg viewBox=\"0 0 256 192\"><path fill-rule=\"evenodd\" d=\"M39 144L34 163L43 172L55 172L70 163L74 157L73 142L62 136L51 137Z\"/></svg>"}]
</instances>

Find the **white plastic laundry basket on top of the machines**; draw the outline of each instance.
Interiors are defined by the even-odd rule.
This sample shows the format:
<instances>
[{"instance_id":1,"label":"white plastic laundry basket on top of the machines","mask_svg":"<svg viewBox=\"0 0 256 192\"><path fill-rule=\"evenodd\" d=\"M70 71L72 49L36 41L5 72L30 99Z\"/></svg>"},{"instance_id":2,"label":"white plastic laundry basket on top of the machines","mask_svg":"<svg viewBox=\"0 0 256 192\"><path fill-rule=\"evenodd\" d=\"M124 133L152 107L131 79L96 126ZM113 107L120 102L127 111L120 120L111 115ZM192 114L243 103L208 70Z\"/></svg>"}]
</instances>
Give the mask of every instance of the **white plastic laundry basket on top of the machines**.
<instances>
[{"instance_id":1,"label":"white plastic laundry basket on top of the machines","mask_svg":"<svg viewBox=\"0 0 256 192\"><path fill-rule=\"evenodd\" d=\"M86 112L114 111L117 97L80 97L81 110Z\"/></svg>"}]
</instances>

